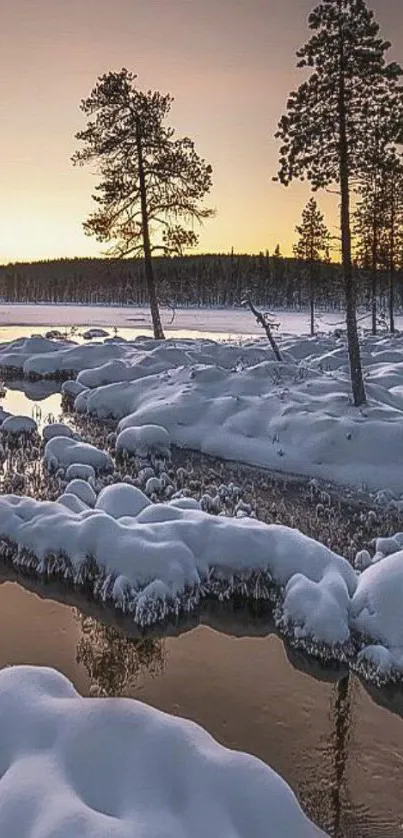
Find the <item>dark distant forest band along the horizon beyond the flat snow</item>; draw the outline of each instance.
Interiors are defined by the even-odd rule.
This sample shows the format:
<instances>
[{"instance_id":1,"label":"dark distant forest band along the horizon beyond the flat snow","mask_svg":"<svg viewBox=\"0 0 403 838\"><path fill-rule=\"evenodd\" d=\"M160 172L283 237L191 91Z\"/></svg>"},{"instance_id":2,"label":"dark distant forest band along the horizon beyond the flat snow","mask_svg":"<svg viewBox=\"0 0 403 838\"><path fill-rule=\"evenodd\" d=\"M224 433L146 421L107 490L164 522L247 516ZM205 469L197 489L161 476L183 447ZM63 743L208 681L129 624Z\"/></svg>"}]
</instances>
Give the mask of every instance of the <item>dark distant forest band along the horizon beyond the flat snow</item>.
<instances>
[{"instance_id":1,"label":"dark distant forest band along the horizon beyond the flat snow","mask_svg":"<svg viewBox=\"0 0 403 838\"><path fill-rule=\"evenodd\" d=\"M370 307L371 275L357 271L358 305ZM155 259L162 305L237 306L250 292L267 308L309 306L307 263L260 253L202 255ZM388 276L378 273L380 309L387 309ZM147 305L141 259L60 259L0 266L0 297L19 303L104 303ZM316 265L316 305L326 310L345 307L341 266ZM396 308L403 307L403 272L396 275Z\"/></svg>"}]
</instances>

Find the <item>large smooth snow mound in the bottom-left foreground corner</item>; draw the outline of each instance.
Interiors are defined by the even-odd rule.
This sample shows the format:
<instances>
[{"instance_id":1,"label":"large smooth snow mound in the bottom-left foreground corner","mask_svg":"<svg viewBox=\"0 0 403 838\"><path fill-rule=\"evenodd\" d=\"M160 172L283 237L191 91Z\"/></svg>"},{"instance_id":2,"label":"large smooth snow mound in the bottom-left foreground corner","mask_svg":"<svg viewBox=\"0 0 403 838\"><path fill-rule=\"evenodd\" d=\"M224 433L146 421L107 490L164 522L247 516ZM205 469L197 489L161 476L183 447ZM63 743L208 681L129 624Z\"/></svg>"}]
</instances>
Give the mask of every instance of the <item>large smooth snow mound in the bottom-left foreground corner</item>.
<instances>
[{"instance_id":1,"label":"large smooth snow mound in the bottom-left foreground corner","mask_svg":"<svg viewBox=\"0 0 403 838\"><path fill-rule=\"evenodd\" d=\"M196 724L81 698L51 669L0 673L7 838L319 838L287 784Z\"/></svg>"}]
</instances>

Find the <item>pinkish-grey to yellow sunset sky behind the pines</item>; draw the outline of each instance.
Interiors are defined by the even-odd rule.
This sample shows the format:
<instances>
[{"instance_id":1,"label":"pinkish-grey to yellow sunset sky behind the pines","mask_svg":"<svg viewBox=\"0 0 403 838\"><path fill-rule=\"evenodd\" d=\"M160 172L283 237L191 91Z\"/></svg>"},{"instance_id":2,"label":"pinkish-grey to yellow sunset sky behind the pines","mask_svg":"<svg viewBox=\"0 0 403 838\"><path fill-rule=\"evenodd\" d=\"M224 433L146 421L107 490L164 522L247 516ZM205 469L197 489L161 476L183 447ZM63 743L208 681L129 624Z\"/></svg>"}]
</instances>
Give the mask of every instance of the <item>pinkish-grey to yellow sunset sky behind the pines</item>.
<instances>
[{"instance_id":1,"label":"pinkish-grey to yellow sunset sky behind the pines","mask_svg":"<svg viewBox=\"0 0 403 838\"><path fill-rule=\"evenodd\" d=\"M402 0L377 0L403 61ZM277 171L277 122L300 81L295 51L313 0L0 0L0 264L98 256L84 235L95 176L73 168L79 105L97 77L127 67L170 92L171 121L211 163L216 217L204 252L290 253L309 197ZM331 229L334 196L318 198Z\"/></svg>"}]
</instances>

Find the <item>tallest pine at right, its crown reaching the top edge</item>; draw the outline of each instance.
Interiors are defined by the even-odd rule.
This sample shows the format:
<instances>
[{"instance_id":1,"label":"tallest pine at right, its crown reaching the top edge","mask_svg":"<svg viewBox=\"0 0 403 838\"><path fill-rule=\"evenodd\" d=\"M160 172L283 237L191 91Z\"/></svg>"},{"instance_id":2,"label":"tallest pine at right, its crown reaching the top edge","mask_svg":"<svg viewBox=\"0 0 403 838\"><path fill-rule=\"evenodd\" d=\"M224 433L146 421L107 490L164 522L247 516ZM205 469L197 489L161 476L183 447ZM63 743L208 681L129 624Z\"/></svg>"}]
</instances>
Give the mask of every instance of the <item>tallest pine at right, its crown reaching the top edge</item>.
<instances>
[{"instance_id":1,"label":"tallest pine at right, its crown reaching the top edge","mask_svg":"<svg viewBox=\"0 0 403 838\"><path fill-rule=\"evenodd\" d=\"M323 0L309 17L313 35L297 53L298 67L310 72L290 94L279 123L282 140L278 178L288 186L309 180L314 190L339 184L341 249L346 296L347 337L354 404L365 403L352 263L351 184L359 178L368 123L379 118L386 142L401 133L402 71L386 63L390 44L364 0ZM398 108L390 108L390 101Z\"/></svg>"}]
</instances>

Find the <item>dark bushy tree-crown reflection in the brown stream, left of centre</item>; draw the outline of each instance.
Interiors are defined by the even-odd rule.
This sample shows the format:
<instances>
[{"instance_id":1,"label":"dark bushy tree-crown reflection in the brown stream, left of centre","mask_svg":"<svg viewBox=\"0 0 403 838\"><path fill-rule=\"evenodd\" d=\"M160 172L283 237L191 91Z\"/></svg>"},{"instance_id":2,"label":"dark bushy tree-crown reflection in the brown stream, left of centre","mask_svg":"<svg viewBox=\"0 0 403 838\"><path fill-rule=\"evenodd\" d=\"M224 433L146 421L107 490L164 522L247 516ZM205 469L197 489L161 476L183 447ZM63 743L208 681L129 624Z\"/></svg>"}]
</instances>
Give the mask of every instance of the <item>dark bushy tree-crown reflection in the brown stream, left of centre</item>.
<instances>
[{"instance_id":1,"label":"dark bushy tree-crown reflection in the brown stream, left of centre","mask_svg":"<svg viewBox=\"0 0 403 838\"><path fill-rule=\"evenodd\" d=\"M79 615L81 638L76 660L88 672L91 691L101 696L120 696L145 673L159 675L164 669L163 641L153 637L129 638L113 626Z\"/></svg>"}]
</instances>

